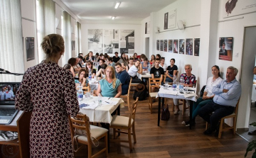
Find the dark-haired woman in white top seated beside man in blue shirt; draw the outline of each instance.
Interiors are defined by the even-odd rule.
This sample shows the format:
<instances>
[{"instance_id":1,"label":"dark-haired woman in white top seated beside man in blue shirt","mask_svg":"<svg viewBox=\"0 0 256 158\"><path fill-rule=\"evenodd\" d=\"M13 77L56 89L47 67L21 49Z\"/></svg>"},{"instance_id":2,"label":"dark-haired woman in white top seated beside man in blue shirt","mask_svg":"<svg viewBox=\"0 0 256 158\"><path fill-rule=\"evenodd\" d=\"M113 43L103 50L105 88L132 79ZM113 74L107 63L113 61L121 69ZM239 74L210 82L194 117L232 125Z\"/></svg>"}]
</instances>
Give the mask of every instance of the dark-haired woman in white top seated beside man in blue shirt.
<instances>
[{"instance_id":1,"label":"dark-haired woman in white top seated beside man in blue shirt","mask_svg":"<svg viewBox=\"0 0 256 158\"><path fill-rule=\"evenodd\" d=\"M181 124L189 126L191 125L195 125L195 118L198 115L198 110L199 108L203 107L206 105L206 103L213 101L213 86L218 85L219 82L222 80L220 78L220 68L217 65L214 65L212 67L212 74L213 77L209 77L206 83L206 88L203 92L203 96L198 98L196 102L193 103L193 113L192 113L192 120L188 120L188 121L183 121Z\"/></svg>"}]
</instances>

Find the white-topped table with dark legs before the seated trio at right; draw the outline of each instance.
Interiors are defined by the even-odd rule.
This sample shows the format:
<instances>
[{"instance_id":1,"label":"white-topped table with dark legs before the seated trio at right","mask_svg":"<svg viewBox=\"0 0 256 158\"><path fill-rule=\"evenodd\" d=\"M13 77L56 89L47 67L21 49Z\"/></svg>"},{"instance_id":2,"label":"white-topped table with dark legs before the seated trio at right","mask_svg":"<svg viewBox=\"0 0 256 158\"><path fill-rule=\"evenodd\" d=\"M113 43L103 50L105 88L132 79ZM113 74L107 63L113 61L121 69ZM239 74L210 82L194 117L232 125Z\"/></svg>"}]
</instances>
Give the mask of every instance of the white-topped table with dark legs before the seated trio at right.
<instances>
[{"instance_id":1,"label":"white-topped table with dark legs before the seated trio at right","mask_svg":"<svg viewBox=\"0 0 256 158\"><path fill-rule=\"evenodd\" d=\"M161 109L161 98L162 98L162 105L164 105L164 98L179 98L179 99L186 99L190 101L190 120L192 118L192 107L193 107L193 101L197 100L196 96L196 88L188 88L191 90L194 90L194 92L192 94L181 94L179 93L179 91L174 91L174 89L172 87L169 87L168 89L164 89L163 87L161 87L159 89L158 94L156 95L156 98L159 97L159 109L158 109L158 121L157 121L157 125L159 126L160 123L160 109ZM191 125L189 126L189 128L191 129Z\"/></svg>"}]
</instances>

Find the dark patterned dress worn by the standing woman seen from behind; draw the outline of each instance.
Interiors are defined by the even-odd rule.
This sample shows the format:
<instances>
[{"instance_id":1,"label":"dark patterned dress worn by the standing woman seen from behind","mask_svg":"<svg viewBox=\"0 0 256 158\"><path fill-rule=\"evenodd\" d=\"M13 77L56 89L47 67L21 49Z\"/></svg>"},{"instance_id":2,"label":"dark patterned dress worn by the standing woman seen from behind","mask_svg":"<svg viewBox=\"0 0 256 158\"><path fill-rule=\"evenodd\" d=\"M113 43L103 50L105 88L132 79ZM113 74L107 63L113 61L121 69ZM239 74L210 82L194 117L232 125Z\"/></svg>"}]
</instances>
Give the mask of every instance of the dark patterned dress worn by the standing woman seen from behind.
<instances>
[{"instance_id":1,"label":"dark patterned dress worn by the standing woman seen from behind","mask_svg":"<svg viewBox=\"0 0 256 158\"><path fill-rule=\"evenodd\" d=\"M33 111L30 157L74 157L68 115L79 111L72 74L56 63L29 68L16 94L16 108Z\"/></svg>"}]
</instances>

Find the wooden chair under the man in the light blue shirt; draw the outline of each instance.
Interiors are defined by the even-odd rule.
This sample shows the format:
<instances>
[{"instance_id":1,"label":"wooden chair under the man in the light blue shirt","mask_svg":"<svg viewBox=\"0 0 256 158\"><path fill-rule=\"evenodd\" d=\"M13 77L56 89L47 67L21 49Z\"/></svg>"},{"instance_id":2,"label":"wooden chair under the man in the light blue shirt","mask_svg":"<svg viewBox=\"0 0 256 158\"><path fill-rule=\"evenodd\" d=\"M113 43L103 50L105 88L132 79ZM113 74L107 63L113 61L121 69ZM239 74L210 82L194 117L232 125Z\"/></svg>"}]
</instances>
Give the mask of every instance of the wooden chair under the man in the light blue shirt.
<instances>
[{"instance_id":1,"label":"wooden chair under the man in the light blue shirt","mask_svg":"<svg viewBox=\"0 0 256 158\"><path fill-rule=\"evenodd\" d=\"M236 128L236 120L238 116L238 104L239 104L240 98L238 99L238 103L235 106L235 111L220 119L220 127L218 132L218 138L221 137L223 131L233 130L233 135L235 135L235 128ZM226 118L233 118L233 126L230 126L224 122ZM206 130L208 129L208 122L206 122Z\"/></svg>"}]
</instances>

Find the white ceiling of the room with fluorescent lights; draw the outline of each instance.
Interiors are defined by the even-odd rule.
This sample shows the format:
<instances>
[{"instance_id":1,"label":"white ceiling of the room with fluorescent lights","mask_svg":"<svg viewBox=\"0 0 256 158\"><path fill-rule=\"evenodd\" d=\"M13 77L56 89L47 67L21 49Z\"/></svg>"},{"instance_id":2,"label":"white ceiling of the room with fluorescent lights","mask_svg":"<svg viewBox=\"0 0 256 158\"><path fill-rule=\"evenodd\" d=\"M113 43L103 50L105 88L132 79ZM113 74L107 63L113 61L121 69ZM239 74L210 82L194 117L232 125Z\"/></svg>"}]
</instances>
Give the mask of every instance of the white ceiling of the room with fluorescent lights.
<instances>
[{"instance_id":1,"label":"white ceiling of the room with fluorescent lights","mask_svg":"<svg viewBox=\"0 0 256 158\"><path fill-rule=\"evenodd\" d=\"M120 0L118 9L114 9L114 0L61 0L82 21L137 21L140 23L176 0ZM119 0L117 0L119 1ZM116 18L111 19L112 16Z\"/></svg>"}]
</instances>

